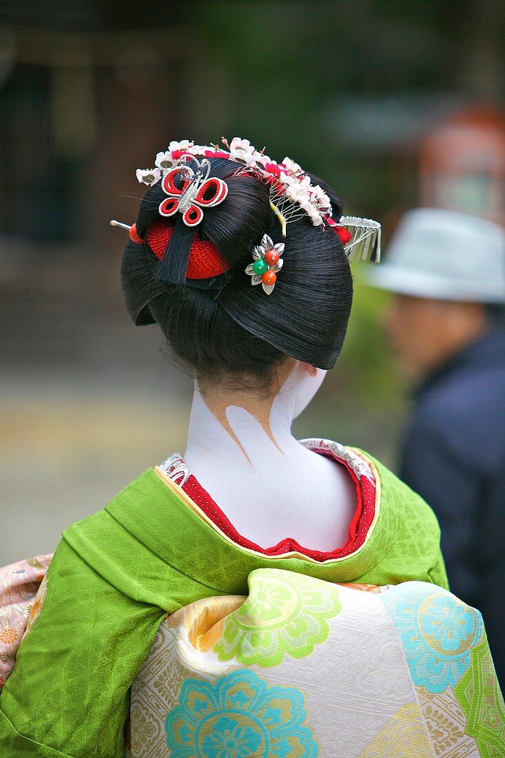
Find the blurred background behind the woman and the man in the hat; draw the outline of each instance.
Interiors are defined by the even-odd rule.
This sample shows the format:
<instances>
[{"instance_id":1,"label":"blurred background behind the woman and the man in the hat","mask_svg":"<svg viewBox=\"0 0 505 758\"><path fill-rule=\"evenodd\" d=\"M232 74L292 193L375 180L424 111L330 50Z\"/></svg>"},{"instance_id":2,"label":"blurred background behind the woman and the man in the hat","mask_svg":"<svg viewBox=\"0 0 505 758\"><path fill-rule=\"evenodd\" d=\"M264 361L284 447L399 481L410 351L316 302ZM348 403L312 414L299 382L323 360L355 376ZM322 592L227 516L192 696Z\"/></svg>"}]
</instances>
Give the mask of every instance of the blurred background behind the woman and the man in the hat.
<instances>
[{"instance_id":1,"label":"blurred background behind the woman and the man in the hat","mask_svg":"<svg viewBox=\"0 0 505 758\"><path fill-rule=\"evenodd\" d=\"M133 327L119 265L171 139L266 146L387 239L416 205L505 219L502 0L0 2L0 565L50 552L183 452L191 377ZM349 336L296 434L387 465L406 414L355 269Z\"/></svg>"}]
</instances>

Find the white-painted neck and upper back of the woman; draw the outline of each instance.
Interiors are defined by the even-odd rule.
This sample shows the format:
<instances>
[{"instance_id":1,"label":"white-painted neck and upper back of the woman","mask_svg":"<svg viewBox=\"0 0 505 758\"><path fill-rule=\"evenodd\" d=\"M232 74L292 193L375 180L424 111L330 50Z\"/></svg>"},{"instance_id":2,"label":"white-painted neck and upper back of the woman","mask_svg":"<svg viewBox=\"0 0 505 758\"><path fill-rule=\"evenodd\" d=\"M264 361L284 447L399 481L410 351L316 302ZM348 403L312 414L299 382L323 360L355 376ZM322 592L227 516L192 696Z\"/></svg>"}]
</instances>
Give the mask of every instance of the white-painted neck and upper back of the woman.
<instances>
[{"instance_id":1,"label":"white-painted neck and upper back of the woman","mask_svg":"<svg viewBox=\"0 0 505 758\"><path fill-rule=\"evenodd\" d=\"M291 434L325 374L295 362L271 401L243 393L227 405L195 390L184 460L240 534L263 547L285 537L318 550L347 541L353 481Z\"/></svg>"}]
</instances>

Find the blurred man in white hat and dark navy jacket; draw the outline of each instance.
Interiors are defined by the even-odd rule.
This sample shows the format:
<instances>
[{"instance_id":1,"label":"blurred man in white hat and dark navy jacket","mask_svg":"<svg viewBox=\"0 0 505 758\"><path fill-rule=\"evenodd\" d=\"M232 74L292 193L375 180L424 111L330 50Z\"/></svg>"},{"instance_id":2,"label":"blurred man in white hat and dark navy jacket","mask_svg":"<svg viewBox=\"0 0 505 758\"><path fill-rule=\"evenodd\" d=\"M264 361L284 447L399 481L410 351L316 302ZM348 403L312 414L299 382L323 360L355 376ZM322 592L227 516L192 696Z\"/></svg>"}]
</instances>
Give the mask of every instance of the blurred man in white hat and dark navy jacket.
<instances>
[{"instance_id":1,"label":"blurred man in white hat and dark navy jacket","mask_svg":"<svg viewBox=\"0 0 505 758\"><path fill-rule=\"evenodd\" d=\"M432 506L451 589L481 610L505 681L505 231L441 208L409 211L373 287L416 383L400 478Z\"/></svg>"}]
</instances>

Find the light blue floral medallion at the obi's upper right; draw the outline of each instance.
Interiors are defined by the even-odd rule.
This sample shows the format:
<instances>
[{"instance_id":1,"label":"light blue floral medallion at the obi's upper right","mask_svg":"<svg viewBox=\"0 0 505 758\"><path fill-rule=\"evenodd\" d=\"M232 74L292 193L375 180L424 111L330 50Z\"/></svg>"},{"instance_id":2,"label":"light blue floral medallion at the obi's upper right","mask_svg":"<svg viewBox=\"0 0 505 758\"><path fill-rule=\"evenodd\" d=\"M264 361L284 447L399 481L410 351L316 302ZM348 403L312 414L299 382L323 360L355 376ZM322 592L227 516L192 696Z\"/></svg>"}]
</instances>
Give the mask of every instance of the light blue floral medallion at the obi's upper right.
<instances>
[{"instance_id":1,"label":"light blue floral medallion at the obi's upper right","mask_svg":"<svg viewBox=\"0 0 505 758\"><path fill-rule=\"evenodd\" d=\"M406 582L379 595L393 619L412 681L428 692L453 688L472 662L482 619L454 595L421 582Z\"/></svg>"}]
</instances>

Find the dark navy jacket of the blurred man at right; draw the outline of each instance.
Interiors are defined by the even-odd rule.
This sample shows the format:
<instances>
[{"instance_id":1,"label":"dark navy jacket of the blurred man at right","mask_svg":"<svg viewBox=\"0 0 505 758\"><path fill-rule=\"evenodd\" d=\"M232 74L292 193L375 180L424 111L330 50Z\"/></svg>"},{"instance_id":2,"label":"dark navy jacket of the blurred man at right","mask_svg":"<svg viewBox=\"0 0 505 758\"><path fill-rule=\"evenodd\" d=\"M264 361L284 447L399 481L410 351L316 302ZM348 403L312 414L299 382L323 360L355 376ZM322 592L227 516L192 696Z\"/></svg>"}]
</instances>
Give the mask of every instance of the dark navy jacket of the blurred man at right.
<instances>
[{"instance_id":1,"label":"dark navy jacket of the blurred man at right","mask_svg":"<svg viewBox=\"0 0 505 758\"><path fill-rule=\"evenodd\" d=\"M485 620L505 681L505 330L484 337L416 393L400 477L434 509L450 588Z\"/></svg>"}]
</instances>

